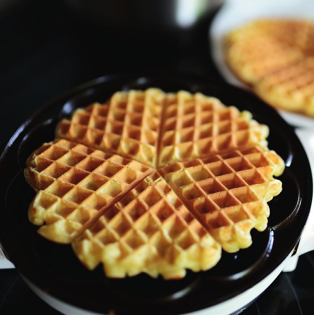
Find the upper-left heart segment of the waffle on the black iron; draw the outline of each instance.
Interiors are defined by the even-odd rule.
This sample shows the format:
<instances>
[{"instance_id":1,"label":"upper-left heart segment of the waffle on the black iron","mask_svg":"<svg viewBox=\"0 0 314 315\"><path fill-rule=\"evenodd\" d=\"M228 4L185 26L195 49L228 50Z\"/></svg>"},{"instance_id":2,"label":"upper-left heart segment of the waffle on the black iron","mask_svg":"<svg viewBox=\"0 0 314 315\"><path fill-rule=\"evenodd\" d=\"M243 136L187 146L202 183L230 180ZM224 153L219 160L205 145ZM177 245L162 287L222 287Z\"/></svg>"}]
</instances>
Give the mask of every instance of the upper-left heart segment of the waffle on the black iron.
<instances>
[{"instance_id":1,"label":"upper-left heart segment of the waffle on the black iron","mask_svg":"<svg viewBox=\"0 0 314 315\"><path fill-rule=\"evenodd\" d=\"M75 110L59 123L56 137L156 167L163 98L159 89L117 92L106 104Z\"/></svg>"}]
</instances>

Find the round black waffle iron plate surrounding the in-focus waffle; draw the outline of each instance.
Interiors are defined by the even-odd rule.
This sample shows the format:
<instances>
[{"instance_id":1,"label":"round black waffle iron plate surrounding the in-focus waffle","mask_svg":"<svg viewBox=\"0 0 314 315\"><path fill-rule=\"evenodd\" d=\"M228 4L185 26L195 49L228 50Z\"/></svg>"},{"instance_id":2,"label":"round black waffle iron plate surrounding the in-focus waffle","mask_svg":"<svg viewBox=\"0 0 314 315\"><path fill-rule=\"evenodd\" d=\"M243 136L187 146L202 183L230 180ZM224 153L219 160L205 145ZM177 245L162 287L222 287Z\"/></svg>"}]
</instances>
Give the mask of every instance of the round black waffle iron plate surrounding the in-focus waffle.
<instances>
[{"instance_id":1,"label":"round black waffle iron plate surrounding the in-focus waffle","mask_svg":"<svg viewBox=\"0 0 314 315\"><path fill-rule=\"evenodd\" d=\"M50 242L37 234L27 218L35 192L23 176L26 158L43 142L54 140L61 117L93 101L106 101L115 91L159 87L219 98L227 106L253 113L270 128L269 148L286 162L279 179L283 191L268 204L264 232L252 230L253 244L237 253L222 253L206 272L187 271L181 280L153 279L146 274L106 278L102 266L88 271L70 245ZM107 314L181 314L200 310L243 292L271 273L298 242L312 198L310 165L294 130L254 95L226 84L178 75L111 75L83 84L43 106L13 135L0 159L0 242L17 270L48 294L69 304ZM248 301L249 302L249 301Z\"/></svg>"}]
</instances>

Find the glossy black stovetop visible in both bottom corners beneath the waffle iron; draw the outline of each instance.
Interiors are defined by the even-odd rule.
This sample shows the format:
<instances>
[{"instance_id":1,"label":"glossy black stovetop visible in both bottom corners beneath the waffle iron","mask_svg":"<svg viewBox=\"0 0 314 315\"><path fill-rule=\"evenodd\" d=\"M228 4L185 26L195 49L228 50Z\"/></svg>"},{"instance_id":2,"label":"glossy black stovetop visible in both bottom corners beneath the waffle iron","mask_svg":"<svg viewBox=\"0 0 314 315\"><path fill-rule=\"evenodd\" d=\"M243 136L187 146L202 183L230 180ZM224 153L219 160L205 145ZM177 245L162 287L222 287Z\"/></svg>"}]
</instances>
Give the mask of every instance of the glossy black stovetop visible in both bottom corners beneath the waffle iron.
<instances>
[{"instance_id":1,"label":"glossy black stovetop visible in both bottom corners beneath the waffle iron","mask_svg":"<svg viewBox=\"0 0 314 315\"><path fill-rule=\"evenodd\" d=\"M0 313L60 315L43 302L16 270L0 270ZM314 251L299 258L293 272L278 278L241 315L312 315L314 312ZM205 315L205 314L204 314Z\"/></svg>"}]
</instances>

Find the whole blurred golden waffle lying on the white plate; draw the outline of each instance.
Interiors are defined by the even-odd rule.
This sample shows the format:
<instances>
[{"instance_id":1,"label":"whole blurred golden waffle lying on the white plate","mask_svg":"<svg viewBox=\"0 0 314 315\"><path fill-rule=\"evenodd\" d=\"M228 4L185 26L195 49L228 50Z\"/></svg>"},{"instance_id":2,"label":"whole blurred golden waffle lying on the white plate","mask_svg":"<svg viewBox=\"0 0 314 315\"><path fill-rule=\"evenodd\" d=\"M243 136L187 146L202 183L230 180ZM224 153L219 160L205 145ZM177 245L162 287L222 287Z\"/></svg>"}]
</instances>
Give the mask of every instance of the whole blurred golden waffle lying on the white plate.
<instances>
[{"instance_id":1,"label":"whole blurred golden waffle lying on the white plate","mask_svg":"<svg viewBox=\"0 0 314 315\"><path fill-rule=\"evenodd\" d=\"M226 60L269 104L314 116L313 23L249 23L226 37Z\"/></svg>"}]
</instances>

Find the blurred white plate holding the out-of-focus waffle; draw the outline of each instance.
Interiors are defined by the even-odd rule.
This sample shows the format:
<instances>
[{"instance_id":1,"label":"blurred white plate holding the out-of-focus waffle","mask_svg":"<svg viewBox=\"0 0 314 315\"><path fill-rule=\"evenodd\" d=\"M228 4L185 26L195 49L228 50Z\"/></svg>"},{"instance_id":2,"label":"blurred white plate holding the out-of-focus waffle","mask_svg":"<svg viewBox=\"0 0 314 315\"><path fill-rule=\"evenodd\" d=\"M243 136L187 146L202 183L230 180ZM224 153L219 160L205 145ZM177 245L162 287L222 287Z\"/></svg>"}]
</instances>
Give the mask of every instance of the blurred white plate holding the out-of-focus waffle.
<instances>
[{"instance_id":1,"label":"blurred white plate holding the out-of-focus waffle","mask_svg":"<svg viewBox=\"0 0 314 315\"><path fill-rule=\"evenodd\" d=\"M227 82L241 88L241 83L224 60L223 37L229 31L258 18L286 17L314 20L314 1L309 0L229 0L215 16L209 30L212 58ZM281 116L294 126L314 128L314 119L279 110Z\"/></svg>"}]
</instances>

